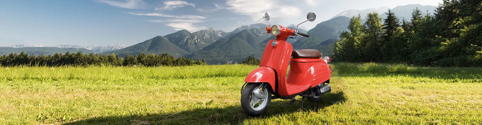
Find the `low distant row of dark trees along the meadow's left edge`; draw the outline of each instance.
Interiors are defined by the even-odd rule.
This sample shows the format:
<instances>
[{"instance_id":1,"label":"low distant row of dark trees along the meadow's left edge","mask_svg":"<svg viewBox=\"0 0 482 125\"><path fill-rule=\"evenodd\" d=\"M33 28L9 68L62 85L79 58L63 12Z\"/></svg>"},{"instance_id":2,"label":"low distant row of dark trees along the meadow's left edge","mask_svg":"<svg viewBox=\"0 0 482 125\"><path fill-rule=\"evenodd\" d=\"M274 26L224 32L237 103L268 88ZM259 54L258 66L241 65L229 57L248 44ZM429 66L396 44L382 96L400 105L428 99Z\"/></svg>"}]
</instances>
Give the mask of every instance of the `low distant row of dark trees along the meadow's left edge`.
<instances>
[{"instance_id":1,"label":"low distant row of dark trees along the meadow's left edge","mask_svg":"<svg viewBox=\"0 0 482 125\"><path fill-rule=\"evenodd\" d=\"M168 53L149 54L141 53L139 55L126 55L125 58L119 57L117 54L83 54L81 51L55 53L53 55L34 54L28 55L26 52L10 53L0 56L0 66L88 66L88 65L113 65L113 66L188 66L188 65L206 65L204 60L194 61L187 57L174 58Z\"/></svg>"}]
</instances>

